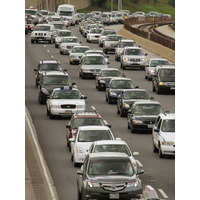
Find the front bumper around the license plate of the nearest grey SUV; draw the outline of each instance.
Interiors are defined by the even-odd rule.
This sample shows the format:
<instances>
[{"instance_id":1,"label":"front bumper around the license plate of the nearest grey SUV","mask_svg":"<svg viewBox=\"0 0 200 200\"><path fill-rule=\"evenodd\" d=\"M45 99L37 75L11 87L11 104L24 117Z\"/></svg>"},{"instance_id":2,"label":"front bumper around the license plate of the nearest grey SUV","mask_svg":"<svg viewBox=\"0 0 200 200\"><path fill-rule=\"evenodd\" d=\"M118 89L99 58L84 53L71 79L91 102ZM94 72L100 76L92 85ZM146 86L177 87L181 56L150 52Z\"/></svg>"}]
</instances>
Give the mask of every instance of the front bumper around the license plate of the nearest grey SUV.
<instances>
[{"instance_id":1,"label":"front bumper around the license plate of the nearest grey SUV","mask_svg":"<svg viewBox=\"0 0 200 200\"><path fill-rule=\"evenodd\" d=\"M111 192L111 191L105 191L102 188L97 188L97 189L88 189L87 194L84 196L87 197L88 200L108 200L112 199L110 197L110 194L119 194L120 200L131 200L134 198L140 198L142 194L142 189L137 189L134 188L135 191L133 191L133 188L125 188L124 190L117 191L117 192Z\"/></svg>"}]
</instances>

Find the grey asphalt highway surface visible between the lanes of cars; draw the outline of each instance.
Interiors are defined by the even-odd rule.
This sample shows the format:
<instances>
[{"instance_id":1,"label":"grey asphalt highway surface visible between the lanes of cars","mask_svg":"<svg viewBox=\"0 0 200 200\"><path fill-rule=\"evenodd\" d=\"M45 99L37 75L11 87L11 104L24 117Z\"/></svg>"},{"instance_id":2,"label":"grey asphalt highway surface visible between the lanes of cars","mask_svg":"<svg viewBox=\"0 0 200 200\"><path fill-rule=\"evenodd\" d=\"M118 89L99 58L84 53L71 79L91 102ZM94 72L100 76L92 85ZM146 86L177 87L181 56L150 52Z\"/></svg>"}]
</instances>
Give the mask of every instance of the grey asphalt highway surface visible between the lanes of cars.
<instances>
[{"instance_id":1,"label":"grey asphalt highway surface visible between the lanes of cars","mask_svg":"<svg viewBox=\"0 0 200 200\"><path fill-rule=\"evenodd\" d=\"M111 27L109 27L111 28ZM120 26L113 26L119 30ZM79 37L82 45L91 49L101 49L97 44L86 43L85 38L78 31L78 27L70 27L73 34ZM105 93L95 88L94 79L82 80L79 78L78 65L69 65L69 56L60 55L59 49L54 44L31 44L30 34L25 36L25 103L32 116L39 143L49 167L60 200L77 199L76 171L70 160L70 152L66 147L66 128L69 119L50 120L46 115L46 106L37 102L38 89L35 87L34 68L42 59L57 59L61 62L73 82L76 83L82 94L86 95L87 108L94 106L101 116L112 125L115 137L120 137L127 142L132 151L139 152L138 164L143 167L145 173L140 175L144 185L153 186L161 199L175 199L175 159L167 157L160 159L153 153L152 136L149 133L132 134L127 129L126 118L117 115L116 105L109 105L105 101ZM144 49L149 58L160 57ZM120 68L120 63L114 59L114 54L109 54L109 67ZM165 110L175 112L175 95L152 92L150 81L145 80L145 72L140 70L126 70L126 76L131 78L135 85L144 88L159 101Z\"/></svg>"}]
</instances>

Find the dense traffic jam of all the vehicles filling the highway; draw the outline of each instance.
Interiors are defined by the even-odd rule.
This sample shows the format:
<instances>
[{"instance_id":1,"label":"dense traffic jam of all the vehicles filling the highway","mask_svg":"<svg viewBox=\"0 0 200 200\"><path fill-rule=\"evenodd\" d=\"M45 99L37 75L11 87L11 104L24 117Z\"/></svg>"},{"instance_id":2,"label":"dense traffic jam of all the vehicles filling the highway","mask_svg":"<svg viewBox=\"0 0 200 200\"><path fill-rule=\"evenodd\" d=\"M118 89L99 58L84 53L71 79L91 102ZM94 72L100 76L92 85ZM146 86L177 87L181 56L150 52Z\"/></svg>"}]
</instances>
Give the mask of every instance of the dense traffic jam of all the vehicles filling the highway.
<instances>
[{"instance_id":1,"label":"dense traffic jam of all the vehicles filling the highway","mask_svg":"<svg viewBox=\"0 0 200 200\"><path fill-rule=\"evenodd\" d=\"M38 90L35 100L45 106L42 114L53 123L66 121L63 143L70 153L67 162L77 171L76 199L167 199L166 194L161 196L154 187L143 184L145 170L138 166L142 155L122 139L126 133L116 136L116 124L105 119L103 109L96 109L95 102L72 78L76 76L81 85L92 80L92 95L103 97L102 103L114 108L113 117L123 120L122 130L128 130L133 138L151 135L149 151L161 162L174 159L175 113L165 110L159 98L136 85L129 74L142 73L148 90L151 88L155 95L174 96L175 64L165 58L149 58L134 38L125 38L113 28L138 13L121 10L85 14L77 13L73 5L62 4L57 12L29 7L25 14L30 45L51 46L66 60L63 65L56 56L40 59L32 74L34 90Z\"/></svg>"}]
</instances>

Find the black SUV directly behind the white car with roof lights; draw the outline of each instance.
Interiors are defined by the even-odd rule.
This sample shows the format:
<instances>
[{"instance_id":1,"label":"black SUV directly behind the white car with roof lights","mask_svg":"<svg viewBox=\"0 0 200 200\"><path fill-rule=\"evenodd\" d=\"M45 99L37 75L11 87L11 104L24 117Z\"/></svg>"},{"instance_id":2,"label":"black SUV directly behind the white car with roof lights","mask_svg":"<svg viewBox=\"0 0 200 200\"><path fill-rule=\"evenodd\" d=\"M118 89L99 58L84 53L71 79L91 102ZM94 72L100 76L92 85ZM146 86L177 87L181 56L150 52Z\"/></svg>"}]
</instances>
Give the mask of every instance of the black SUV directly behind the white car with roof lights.
<instances>
[{"instance_id":1,"label":"black SUV directly behind the white car with roof lights","mask_svg":"<svg viewBox=\"0 0 200 200\"><path fill-rule=\"evenodd\" d=\"M40 76L38 102L46 103L47 97L50 96L54 88L63 86L73 86L70 77L65 72L44 72Z\"/></svg>"}]
</instances>

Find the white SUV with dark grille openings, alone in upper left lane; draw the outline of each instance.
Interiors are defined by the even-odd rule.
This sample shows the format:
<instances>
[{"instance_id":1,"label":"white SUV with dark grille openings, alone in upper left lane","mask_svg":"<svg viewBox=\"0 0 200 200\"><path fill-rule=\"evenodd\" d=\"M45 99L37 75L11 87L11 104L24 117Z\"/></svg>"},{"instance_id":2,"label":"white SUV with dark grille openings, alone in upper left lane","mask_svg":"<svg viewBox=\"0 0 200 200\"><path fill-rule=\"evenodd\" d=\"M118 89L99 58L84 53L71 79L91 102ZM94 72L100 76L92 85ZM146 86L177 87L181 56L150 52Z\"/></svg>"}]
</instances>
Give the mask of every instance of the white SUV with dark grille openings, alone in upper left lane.
<instances>
[{"instance_id":1,"label":"white SUV with dark grille openings, alone in upper left lane","mask_svg":"<svg viewBox=\"0 0 200 200\"><path fill-rule=\"evenodd\" d=\"M37 24L31 33L31 43L35 41L48 41L49 44L55 41L56 30L54 25Z\"/></svg>"}]
</instances>

